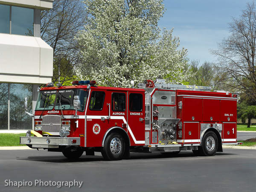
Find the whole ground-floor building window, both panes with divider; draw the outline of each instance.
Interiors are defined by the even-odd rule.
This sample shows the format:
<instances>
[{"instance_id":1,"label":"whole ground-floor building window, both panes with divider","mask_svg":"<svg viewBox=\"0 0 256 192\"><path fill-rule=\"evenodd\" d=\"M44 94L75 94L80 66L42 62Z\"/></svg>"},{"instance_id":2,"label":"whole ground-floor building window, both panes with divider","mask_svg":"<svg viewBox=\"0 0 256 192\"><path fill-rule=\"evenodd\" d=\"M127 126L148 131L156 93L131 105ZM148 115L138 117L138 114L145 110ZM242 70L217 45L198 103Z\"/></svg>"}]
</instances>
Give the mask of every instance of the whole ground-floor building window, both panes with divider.
<instances>
[{"instance_id":1,"label":"whole ground-floor building window, both panes with divider","mask_svg":"<svg viewBox=\"0 0 256 192\"><path fill-rule=\"evenodd\" d=\"M25 97L32 113L32 84L0 83L0 129L32 129L32 117L24 110Z\"/></svg>"}]
</instances>

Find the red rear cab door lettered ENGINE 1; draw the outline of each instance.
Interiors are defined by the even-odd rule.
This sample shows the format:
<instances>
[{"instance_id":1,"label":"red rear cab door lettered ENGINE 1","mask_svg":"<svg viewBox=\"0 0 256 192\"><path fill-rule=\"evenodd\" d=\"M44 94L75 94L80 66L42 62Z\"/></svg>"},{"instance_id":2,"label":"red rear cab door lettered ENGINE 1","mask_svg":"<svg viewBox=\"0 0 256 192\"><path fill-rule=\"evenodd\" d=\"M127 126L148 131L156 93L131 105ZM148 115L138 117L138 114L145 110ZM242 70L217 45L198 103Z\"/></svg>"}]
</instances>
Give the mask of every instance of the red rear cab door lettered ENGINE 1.
<instances>
[{"instance_id":1,"label":"red rear cab door lettered ENGINE 1","mask_svg":"<svg viewBox=\"0 0 256 192\"><path fill-rule=\"evenodd\" d=\"M131 145L145 144L145 94L128 92L128 134Z\"/></svg>"}]
</instances>

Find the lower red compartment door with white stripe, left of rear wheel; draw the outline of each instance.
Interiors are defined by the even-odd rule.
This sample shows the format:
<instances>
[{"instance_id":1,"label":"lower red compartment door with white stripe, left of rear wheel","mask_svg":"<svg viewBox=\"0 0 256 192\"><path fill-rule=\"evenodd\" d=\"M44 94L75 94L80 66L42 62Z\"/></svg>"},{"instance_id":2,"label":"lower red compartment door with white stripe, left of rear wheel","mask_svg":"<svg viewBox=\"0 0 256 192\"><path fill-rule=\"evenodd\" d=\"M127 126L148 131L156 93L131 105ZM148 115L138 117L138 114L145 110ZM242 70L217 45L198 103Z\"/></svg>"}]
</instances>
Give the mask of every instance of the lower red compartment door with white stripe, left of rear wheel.
<instances>
[{"instance_id":1,"label":"lower red compartment door with white stripe, left of rear wheel","mask_svg":"<svg viewBox=\"0 0 256 192\"><path fill-rule=\"evenodd\" d=\"M200 143L199 122L184 122L184 143Z\"/></svg>"}]
</instances>

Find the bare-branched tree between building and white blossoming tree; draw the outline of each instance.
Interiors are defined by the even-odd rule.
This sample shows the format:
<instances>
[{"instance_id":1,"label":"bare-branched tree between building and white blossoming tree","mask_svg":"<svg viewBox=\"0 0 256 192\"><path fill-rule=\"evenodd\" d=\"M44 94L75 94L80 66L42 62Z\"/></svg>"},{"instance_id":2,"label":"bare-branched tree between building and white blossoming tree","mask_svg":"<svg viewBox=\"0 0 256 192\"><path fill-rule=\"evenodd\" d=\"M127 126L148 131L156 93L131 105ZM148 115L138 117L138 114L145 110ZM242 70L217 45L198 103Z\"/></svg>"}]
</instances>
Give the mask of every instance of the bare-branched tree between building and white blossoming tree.
<instances>
[{"instance_id":1,"label":"bare-branched tree between building and white blossoming tree","mask_svg":"<svg viewBox=\"0 0 256 192\"><path fill-rule=\"evenodd\" d=\"M82 0L54 0L52 9L41 12L41 38L53 48L54 82L71 79L81 62L75 36L86 22L84 9Z\"/></svg>"}]
</instances>

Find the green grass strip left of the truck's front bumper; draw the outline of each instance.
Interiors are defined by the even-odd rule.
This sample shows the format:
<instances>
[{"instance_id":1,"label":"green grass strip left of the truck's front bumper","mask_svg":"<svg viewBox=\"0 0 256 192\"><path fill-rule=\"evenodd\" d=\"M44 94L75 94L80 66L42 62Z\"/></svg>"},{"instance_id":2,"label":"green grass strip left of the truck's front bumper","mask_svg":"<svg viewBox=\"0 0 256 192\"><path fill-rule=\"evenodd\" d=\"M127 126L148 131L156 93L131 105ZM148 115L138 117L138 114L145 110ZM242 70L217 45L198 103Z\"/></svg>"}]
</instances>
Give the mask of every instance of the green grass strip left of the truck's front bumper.
<instances>
[{"instance_id":1,"label":"green grass strip left of the truck's front bumper","mask_svg":"<svg viewBox=\"0 0 256 192\"><path fill-rule=\"evenodd\" d=\"M26 146L20 145L20 137L26 134L0 134L0 146Z\"/></svg>"}]
</instances>

